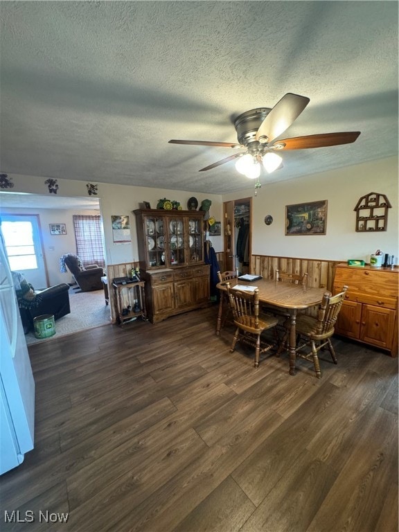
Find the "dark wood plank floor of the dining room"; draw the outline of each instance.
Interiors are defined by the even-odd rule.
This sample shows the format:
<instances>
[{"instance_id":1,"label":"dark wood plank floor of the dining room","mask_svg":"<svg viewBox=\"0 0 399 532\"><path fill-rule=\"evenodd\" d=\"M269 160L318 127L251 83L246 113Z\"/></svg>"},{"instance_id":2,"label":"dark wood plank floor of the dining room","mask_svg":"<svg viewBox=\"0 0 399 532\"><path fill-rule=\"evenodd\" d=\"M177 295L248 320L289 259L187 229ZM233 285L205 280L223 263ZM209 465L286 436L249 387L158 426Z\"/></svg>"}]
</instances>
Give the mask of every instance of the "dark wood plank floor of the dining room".
<instances>
[{"instance_id":1,"label":"dark wood plank floor of the dining room","mask_svg":"<svg viewBox=\"0 0 399 532\"><path fill-rule=\"evenodd\" d=\"M29 348L36 443L0 477L2 530L398 531L398 360L335 339L321 380L254 369L216 312Z\"/></svg>"}]
</instances>

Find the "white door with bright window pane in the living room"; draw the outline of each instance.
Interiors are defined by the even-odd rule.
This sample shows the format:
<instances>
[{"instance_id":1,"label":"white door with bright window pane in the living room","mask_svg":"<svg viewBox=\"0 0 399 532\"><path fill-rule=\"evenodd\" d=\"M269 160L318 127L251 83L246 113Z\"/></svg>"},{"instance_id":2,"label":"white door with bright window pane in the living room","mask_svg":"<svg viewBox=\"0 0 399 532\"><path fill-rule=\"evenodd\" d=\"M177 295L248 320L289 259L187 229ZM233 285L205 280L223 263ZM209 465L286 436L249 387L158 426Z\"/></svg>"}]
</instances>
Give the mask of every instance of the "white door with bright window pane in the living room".
<instances>
[{"instance_id":1,"label":"white door with bright window pane in the living room","mask_svg":"<svg viewBox=\"0 0 399 532\"><path fill-rule=\"evenodd\" d=\"M10 269L22 274L35 290L48 287L37 215L1 214Z\"/></svg>"}]
</instances>

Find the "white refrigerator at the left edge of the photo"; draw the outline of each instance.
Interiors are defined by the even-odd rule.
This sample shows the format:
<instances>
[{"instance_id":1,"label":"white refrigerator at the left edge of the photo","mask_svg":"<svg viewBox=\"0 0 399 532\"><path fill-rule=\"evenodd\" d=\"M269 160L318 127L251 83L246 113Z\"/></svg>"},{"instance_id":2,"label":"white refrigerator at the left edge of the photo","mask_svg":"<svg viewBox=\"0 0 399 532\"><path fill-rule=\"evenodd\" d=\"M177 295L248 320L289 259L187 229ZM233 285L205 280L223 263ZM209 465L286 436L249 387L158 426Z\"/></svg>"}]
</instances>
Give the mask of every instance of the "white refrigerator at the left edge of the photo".
<instances>
[{"instance_id":1,"label":"white refrigerator at the left edge of the photo","mask_svg":"<svg viewBox=\"0 0 399 532\"><path fill-rule=\"evenodd\" d=\"M0 475L33 449L35 381L0 231Z\"/></svg>"}]
</instances>

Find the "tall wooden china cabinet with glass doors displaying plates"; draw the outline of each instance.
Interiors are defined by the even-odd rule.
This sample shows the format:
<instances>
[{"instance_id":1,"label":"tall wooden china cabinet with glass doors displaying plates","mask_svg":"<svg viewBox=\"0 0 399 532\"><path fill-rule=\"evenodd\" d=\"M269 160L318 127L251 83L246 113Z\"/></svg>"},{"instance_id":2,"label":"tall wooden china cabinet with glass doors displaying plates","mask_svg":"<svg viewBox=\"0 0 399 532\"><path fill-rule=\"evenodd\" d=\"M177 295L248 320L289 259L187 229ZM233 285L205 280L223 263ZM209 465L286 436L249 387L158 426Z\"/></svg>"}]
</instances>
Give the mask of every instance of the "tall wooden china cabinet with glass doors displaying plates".
<instances>
[{"instance_id":1,"label":"tall wooden china cabinet with glass doors displaying plates","mask_svg":"<svg viewBox=\"0 0 399 532\"><path fill-rule=\"evenodd\" d=\"M148 318L169 316L209 303L209 265L204 263L203 211L138 209L140 277Z\"/></svg>"}]
</instances>

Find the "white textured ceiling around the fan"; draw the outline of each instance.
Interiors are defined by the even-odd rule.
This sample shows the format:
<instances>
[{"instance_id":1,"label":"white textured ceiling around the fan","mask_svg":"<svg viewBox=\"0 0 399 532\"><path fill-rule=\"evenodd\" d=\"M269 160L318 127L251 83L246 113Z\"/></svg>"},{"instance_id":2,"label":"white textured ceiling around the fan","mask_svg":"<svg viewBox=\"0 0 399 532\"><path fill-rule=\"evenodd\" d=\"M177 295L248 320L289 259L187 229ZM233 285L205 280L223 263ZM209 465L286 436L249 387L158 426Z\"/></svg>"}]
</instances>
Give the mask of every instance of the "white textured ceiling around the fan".
<instances>
[{"instance_id":1,"label":"white textured ceiling around the fan","mask_svg":"<svg viewBox=\"0 0 399 532\"><path fill-rule=\"evenodd\" d=\"M282 138L361 131L283 152L261 182L398 152L396 1L2 1L1 172L202 193L247 188L232 120L310 98Z\"/></svg>"}]
</instances>

